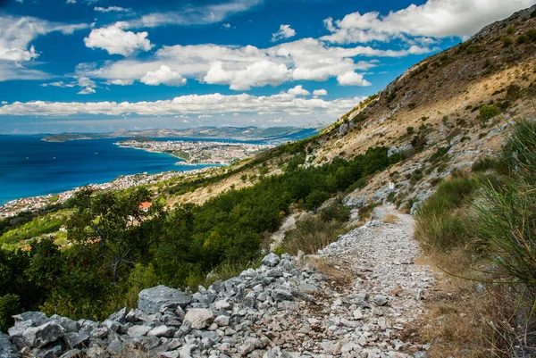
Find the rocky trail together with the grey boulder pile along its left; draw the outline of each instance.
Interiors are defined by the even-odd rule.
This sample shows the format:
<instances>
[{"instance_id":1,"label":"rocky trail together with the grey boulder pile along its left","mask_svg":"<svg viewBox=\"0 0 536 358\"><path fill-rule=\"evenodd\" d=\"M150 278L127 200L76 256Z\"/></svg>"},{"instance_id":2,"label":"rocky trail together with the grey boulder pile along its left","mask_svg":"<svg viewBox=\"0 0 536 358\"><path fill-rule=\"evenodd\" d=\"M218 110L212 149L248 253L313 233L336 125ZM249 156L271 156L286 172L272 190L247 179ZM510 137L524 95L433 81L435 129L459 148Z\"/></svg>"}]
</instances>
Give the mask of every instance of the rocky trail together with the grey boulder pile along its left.
<instances>
[{"instance_id":1,"label":"rocky trail together with the grey boulder pile along its left","mask_svg":"<svg viewBox=\"0 0 536 358\"><path fill-rule=\"evenodd\" d=\"M148 288L103 322L22 313L0 357L427 357L405 334L434 283L413 223L382 206L316 255L269 254L193 295Z\"/></svg>"}]
</instances>

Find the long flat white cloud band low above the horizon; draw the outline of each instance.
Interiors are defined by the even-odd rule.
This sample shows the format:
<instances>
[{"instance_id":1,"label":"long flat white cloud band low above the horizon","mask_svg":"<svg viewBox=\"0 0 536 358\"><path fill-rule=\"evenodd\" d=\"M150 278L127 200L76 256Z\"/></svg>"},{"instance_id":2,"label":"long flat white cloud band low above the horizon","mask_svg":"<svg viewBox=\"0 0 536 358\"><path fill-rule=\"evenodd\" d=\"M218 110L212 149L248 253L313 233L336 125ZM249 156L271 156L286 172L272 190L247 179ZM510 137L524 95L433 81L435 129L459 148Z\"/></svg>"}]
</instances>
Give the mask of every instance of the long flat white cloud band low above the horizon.
<instances>
[{"instance_id":1,"label":"long flat white cloud band low above the horizon","mask_svg":"<svg viewBox=\"0 0 536 358\"><path fill-rule=\"evenodd\" d=\"M70 115L137 114L141 116L159 115L221 115L222 113L258 113L266 115L307 115L322 114L335 118L353 108L364 97L339 98L324 101L319 98L302 98L281 93L272 96L251 96L247 94L224 96L189 95L172 100L155 102L14 102L0 106L0 115L32 115L39 117L62 117Z\"/></svg>"}]
</instances>

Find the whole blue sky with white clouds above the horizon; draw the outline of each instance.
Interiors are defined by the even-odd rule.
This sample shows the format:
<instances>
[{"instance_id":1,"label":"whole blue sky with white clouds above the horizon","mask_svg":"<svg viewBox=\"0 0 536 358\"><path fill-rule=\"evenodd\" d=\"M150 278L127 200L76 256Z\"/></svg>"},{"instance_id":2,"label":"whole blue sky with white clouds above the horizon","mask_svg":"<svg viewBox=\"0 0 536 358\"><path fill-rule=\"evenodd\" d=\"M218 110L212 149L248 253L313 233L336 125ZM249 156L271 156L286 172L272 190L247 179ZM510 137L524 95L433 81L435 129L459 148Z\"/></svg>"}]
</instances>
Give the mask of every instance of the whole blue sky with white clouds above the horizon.
<instances>
[{"instance_id":1,"label":"whole blue sky with white clouds above the horizon","mask_svg":"<svg viewBox=\"0 0 536 358\"><path fill-rule=\"evenodd\" d=\"M336 121L536 0L0 0L0 133Z\"/></svg>"}]
</instances>

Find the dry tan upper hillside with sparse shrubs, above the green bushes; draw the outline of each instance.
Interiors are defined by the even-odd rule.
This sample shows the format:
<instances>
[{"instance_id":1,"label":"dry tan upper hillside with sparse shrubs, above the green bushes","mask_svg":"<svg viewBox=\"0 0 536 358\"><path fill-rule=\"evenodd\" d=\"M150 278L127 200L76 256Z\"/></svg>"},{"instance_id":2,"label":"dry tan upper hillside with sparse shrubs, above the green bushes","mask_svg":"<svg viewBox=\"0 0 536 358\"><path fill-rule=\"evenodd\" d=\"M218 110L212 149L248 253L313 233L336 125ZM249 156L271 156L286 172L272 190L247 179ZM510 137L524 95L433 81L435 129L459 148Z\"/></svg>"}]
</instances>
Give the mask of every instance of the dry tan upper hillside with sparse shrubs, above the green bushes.
<instances>
[{"instance_id":1,"label":"dry tan upper hillside with sparse shrubs, above the green bushes","mask_svg":"<svg viewBox=\"0 0 536 358\"><path fill-rule=\"evenodd\" d=\"M389 195L385 188L392 181L397 185L397 203L413 204L430 196L433 178L446 178L453 169L470 168L478 157L498 154L504 142L499 126L534 112L535 11L533 6L516 12L463 44L416 63L319 136L306 140L306 162L321 165L349 159L373 146L387 146L391 154L406 153L408 160L370 178L369 185L353 196L381 202ZM493 118L482 118L485 104L498 111ZM269 154L255 162L269 168L267 175L277 175L282 172L278 162L290 156ZM170 203L201 204L230 187L247 187L255 179L240 177L255 178L259 167L254 168L233 171L234 175L172 198Z\"/></svg>"}]
</instances>

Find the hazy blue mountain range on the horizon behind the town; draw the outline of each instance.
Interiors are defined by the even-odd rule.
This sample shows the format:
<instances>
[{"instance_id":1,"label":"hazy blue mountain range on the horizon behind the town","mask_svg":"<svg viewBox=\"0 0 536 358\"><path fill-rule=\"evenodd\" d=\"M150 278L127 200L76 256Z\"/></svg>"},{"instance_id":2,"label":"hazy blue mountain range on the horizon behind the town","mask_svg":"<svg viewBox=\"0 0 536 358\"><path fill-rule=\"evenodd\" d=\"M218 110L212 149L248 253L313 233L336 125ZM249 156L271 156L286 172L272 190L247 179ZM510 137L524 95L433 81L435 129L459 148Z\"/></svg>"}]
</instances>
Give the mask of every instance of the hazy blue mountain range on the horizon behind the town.
<instances>
[{"instance_id":1,"label":"hazy blue mountain range on the horizon behind the town","mask_svg":"<svg viewBox=\"0 0 536 358\"><path fill-rule=\"evenodd\" d=\"M226 139L267 139L267 140L297 140L310 137L325 127L324 123L309 123L306 127L196 127L189 129L121 129L113 133L61 133L43 138L46 142L65 142L69 140L102 139L116 137L198 137Z\"/></svg>"}]
</instances>

